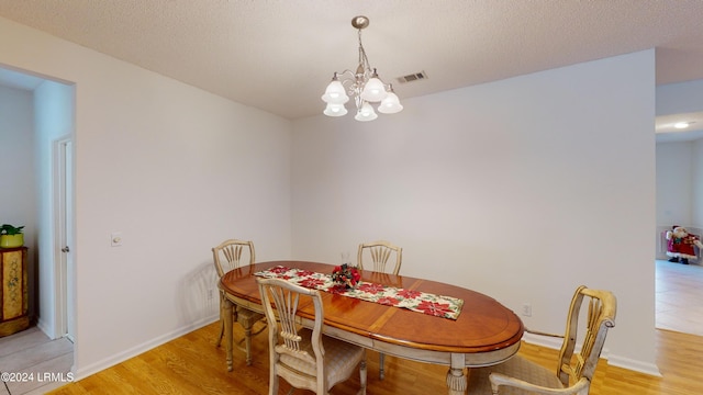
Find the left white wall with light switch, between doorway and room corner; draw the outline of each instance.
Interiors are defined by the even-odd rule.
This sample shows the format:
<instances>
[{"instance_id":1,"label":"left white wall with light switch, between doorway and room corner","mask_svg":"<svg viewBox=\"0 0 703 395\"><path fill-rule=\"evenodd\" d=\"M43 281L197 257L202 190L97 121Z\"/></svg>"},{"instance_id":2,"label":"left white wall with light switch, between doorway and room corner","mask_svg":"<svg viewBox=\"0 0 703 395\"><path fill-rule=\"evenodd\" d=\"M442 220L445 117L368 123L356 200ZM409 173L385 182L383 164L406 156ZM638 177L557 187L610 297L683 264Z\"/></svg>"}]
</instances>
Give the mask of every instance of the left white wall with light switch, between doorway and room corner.
<instances>
[{"instance_id":1,"label":"left white wall with light switch, between doorway and room corner","mask_svg":"<svg viewBox=\"0 0 703 395\"><path fill-rule=\"evenodd\" d=\"M5 19L0 48L76 84L78 377L216 319L221 240L290 257L289 121Z\"/></svg>"}]
</instances>

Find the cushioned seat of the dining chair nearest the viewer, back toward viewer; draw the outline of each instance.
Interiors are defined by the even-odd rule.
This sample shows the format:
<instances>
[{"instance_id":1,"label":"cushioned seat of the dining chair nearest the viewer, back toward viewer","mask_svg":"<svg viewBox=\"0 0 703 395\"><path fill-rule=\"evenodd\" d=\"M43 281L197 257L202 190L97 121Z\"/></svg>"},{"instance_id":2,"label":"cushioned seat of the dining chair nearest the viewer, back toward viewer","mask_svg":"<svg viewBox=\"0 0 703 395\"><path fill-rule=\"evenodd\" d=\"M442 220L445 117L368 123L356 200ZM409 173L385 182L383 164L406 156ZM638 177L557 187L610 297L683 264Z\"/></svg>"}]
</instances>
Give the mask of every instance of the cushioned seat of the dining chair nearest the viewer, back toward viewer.
<instances>
[{"instance_id":1,"label":"cushioned seat of the dining chair nearest the viewer, back toward viewer","mask_svg":"<svg viewBox=\"0 0 703 395\"><path fill-rule=\"evenodd\" d=\"M312 358L314 352L310 342L310 335L302 334L303 341L300 343L301 351L306 351ZM332 387L334 384L345 381L354 372L355 368L364 358L364 349L361 347L337 340L327 336L322 337L322 345L325 348L325 371L327 372L327 384ZM278 346L282 347L282 346ZM290 353L281 353L279 363L281 368L292 369L302 372L312 377L317 375L315 365L301 358L295 358Z\"/></svg>"}]
</instances>

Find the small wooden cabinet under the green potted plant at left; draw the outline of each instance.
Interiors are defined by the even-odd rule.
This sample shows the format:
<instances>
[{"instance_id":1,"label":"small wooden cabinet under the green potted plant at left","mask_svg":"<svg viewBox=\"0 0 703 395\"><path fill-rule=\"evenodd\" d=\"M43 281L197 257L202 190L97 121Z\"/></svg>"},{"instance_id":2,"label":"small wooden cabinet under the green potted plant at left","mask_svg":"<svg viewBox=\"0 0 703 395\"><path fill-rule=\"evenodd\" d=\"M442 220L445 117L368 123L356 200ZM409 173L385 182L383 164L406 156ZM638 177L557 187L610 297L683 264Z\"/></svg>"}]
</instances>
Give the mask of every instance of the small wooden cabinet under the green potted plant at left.
<instances>
[{"instance_id":1,"label":"small wooden cabinet under the green potted plant at left","mask_svg":"<svg viewBox=\"0 0 703 395\"><path fill-rule=\"evenodd\" d=\"M0 248L0 337L30 326L26 250Z\"/></svg>"}]
</instances>

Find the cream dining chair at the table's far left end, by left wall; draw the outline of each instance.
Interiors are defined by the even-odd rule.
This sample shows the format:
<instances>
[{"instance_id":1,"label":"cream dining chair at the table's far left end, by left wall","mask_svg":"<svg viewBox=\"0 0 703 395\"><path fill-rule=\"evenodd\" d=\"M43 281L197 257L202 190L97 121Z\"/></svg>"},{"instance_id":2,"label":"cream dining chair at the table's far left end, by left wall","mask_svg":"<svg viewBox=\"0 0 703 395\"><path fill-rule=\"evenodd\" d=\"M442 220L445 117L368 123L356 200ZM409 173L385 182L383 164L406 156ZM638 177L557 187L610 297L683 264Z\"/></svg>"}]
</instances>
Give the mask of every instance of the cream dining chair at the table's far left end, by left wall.
<instances>
[{"instance_id":1,"label":"cream dining chair at the table's far left end, by left wall","mask_svg":"<svg viewBox=\"0 0 703 395\"><path fill-rule=\"evenodd\" d=\"M233 269L237 269L242 266L254 264L256 260L256 251L254 250L254 242L244 241L237 239L228 239L222 241L219 246L212 248L212 258L217 270L217 278L222 278L226 272ZM248 259L247 259L248 258ZM252 336L260 334L266 329L264 321L264 315L260 313L254 313L249 309L234 306L232 309L232 317L224 317L224 292L220 292L220 338L217 339L217 347L222 343L222 337L224 336L224 319L232 319L235 323L239 323L244 328L244 339L237 343L245 342L246 364L252 364ZM264 323L264 326L254 331L254 325L257 321Z\"/></svg>"}]
</instances>

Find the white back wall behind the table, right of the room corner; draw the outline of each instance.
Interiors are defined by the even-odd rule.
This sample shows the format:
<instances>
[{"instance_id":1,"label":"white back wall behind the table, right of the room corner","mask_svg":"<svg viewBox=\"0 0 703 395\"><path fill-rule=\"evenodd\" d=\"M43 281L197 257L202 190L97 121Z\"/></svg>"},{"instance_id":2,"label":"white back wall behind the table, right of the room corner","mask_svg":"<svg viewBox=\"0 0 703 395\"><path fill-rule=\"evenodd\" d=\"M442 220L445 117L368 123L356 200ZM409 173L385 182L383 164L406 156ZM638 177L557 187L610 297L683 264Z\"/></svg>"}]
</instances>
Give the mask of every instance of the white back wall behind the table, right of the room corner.
<instances>
[{"instance_id":1,"label":"white back wall behind the table, right of the room corner","mask_svg":"<svg viewBox=\"0 0 703 395\"><path fill-rule=\"evenodd\" d=\"M293 256L388 239L402 273L531 303L549 331L576 286L612 290L611 363L656 372L654 50L403 104L294 122Z\"/></svg>"}]
</instances>

